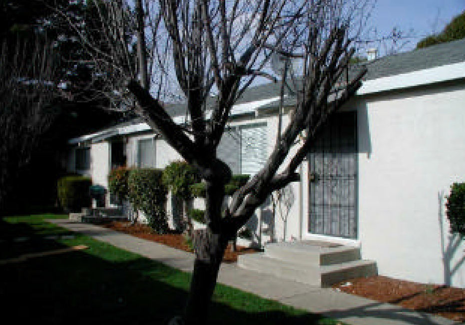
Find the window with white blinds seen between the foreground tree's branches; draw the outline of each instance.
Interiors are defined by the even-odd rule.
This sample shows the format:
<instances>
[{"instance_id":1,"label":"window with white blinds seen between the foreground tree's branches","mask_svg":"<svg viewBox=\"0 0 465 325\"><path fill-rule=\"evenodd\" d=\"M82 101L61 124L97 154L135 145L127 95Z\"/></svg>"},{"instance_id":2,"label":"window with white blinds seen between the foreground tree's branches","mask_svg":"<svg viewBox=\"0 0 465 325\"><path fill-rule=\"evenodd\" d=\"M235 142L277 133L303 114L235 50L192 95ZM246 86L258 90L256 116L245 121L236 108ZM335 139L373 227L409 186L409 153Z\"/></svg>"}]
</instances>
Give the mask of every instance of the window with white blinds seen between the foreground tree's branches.
<instances>
[{"instance_id":1,"label":"window with white blinds seen between the foreground tree's branches","mask_svg":"<svg viewBox=\"0 0 465 325\"><path fill-rule=\"evenodd\" d=\"M255 175L267 158L266 123L232 127L227 130L217 149L233 174Z\"/></svg>"}]
</instances>

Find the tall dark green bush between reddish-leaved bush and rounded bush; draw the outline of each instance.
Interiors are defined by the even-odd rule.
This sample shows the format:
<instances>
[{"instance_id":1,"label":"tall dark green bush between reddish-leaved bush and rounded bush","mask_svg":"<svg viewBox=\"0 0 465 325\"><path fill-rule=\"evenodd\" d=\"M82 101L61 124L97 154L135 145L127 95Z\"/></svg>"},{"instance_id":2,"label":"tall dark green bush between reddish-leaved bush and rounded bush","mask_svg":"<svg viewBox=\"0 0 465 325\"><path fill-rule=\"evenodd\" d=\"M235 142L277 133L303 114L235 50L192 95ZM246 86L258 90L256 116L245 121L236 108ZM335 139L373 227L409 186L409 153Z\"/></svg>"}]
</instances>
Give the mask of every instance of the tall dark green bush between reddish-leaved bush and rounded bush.
<instances>
[{"instance_id":1,"label":"tall dark green bush between reddish-leaved bush and rounded bush","mask_svg":"<svg viewBox=\"0 0 465 325\"><path fill-rule=\"evenodd\" d=\"M135 210L142 211L149 226L159 234L168 230L165 211L168 191L163 185L162 171L153 168L131 169L128 173L128 198Z\"/></svg>"}]
</instances>

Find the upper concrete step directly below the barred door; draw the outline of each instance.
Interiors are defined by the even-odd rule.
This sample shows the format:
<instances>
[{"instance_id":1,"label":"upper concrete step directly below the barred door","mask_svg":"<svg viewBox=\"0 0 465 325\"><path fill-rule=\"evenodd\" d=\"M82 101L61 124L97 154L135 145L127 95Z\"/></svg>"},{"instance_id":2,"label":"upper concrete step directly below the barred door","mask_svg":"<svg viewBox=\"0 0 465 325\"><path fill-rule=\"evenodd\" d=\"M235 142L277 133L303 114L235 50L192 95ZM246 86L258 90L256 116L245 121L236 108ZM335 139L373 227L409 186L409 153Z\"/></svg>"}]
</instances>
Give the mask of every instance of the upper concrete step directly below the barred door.
<instances>
[{"instance_id":1,"label":"upper concrete step directly below the barred door","mask_svg":"<svg viewBox=\"0 0 465 325\"><path fill-rule=\"evenodd\" d=\"M360 249L342 245L324 245L315 242L280 242L267 244L268 257L289 263L310 266L334 265L360 259Z\"/></svg>"}]
</instances>

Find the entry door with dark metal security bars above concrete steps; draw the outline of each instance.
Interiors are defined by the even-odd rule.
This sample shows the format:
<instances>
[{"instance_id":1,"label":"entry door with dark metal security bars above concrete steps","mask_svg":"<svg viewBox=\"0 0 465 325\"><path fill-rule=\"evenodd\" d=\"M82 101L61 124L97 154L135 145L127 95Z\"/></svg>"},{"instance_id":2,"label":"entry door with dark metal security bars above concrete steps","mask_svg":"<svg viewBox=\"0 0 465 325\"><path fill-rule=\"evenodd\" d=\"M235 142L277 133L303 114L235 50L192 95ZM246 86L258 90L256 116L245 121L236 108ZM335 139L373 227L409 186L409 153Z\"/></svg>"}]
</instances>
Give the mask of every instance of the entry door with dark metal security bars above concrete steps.
<instances>
[{"instance_id":1,"label":"entry door with dark metal security bars above concrete steps","mask_svg":"<svg viewBox=\"0 0 465 325\"><path fill-rule=\"evenodd\" d=\"M309 153L308 231L312 234L357 238L357 114L331 117Z\"/></svg>"}]
</instances>

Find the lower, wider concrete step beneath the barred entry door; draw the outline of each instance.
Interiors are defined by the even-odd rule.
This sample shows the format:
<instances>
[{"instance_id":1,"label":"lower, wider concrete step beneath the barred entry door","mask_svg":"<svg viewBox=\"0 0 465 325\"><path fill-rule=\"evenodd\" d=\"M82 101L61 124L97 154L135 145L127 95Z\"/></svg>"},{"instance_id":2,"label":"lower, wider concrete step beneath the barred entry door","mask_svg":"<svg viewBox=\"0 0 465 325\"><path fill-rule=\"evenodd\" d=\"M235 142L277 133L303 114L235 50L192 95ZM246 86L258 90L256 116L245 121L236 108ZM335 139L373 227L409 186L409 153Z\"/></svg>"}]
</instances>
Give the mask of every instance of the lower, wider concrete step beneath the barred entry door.
<instances>
[{"instance_id":1,"label":"lower, wider concrete step beneath the barred entry door","mask_svg":"<svg viewBox=\"0 0 465 325\"><path fill-rule=\"evenodd\" d=\"M312 266L275 259L266 253L255 253L240 255L237 263L245 269L318 287L329 287L347 279L376 275L375 262L363 260Z\"/></svg>"}]
</instances>

